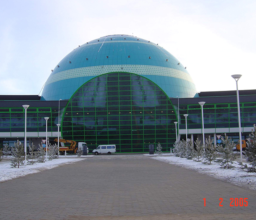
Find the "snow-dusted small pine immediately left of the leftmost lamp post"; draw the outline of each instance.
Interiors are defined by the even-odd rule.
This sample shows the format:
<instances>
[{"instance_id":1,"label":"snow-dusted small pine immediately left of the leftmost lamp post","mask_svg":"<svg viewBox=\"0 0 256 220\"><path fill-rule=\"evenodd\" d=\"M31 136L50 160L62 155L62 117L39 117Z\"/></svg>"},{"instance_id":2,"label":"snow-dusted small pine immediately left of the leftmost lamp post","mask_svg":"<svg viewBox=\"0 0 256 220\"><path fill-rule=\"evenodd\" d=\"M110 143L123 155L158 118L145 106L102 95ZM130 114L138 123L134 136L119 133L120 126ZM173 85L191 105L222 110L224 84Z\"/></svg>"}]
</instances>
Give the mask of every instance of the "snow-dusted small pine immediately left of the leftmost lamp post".
<instances>
[{"instance_id":1,"label":"snow-dusted small pine immediately left of the leftmost lamp post","mask_svg":"<svg viewBox=\"0 0 256 220\"><path fill-rule=\"evenodd\" d=\"M24 146L17 140L17 143L14 143L12 148L12 158L11 158L11 167L18 167L24 164L25 152Z\"/></svg>"}]
</instances>

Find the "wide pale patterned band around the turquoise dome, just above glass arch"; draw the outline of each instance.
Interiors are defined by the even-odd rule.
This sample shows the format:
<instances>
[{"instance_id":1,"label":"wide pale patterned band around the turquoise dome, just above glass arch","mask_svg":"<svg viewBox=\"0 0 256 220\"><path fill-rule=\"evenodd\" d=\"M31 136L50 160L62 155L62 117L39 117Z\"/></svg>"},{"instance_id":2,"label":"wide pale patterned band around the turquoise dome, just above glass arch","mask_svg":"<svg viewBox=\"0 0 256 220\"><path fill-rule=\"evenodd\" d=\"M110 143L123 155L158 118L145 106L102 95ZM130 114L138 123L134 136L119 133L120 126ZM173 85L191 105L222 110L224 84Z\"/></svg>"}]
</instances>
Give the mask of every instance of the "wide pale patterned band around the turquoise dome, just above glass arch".
<instances>
[{"instance_id":1,"label":"wide pale patterned band around the turquoise dome, just above glass arch","mask_svg":"<svg viewBox=\"0 0 256 220\"><path fill-rule=\"evenodd\" d=\"M138 75L169 76L182 80L187 80L193 83L193 80L189 74L173 68L147 65L104 65L75 68L58 72L48 78L48 80L46 81L46 85L60 80L78 78L83 76L99 76L109 72L130 72Z\"/></svg>"}]
</instances>

